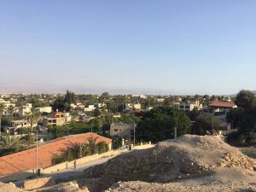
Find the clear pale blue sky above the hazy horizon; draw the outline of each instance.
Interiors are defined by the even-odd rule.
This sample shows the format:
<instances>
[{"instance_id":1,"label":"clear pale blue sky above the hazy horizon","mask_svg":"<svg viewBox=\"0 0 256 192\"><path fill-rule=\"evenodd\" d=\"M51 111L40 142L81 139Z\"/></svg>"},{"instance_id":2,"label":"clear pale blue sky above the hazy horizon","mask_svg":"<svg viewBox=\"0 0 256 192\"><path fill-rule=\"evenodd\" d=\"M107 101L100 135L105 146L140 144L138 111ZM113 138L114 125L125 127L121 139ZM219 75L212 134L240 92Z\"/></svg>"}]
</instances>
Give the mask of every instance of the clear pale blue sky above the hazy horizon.
<instances>
[{"instance_id":1,"label":"clear pale blue sky above the hazy horizon","mask_svg":"<svg viewBox=\"0 0 256 192\"><path fill-rule=\"evenodd\" d=\"M0 92L256 90L254 0L0 0Z\"/></svg>"}]
</instances>

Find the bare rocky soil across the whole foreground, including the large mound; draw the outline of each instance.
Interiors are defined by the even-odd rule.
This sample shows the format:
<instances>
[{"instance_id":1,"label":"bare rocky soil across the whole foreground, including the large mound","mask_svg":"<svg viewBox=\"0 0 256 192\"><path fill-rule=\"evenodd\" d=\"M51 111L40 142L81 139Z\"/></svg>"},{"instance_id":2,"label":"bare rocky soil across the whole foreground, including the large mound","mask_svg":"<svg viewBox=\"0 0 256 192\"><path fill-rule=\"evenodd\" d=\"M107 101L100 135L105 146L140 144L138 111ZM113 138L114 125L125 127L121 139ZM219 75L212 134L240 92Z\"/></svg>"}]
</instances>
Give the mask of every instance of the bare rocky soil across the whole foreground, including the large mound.
<instances>
[{"instance_id":1,"label":"bare rocky soil across the whole foreground, including the large mound","mask_svg":"<svg viewBox=\"0 0 256 192\"><path fill-rule=\"evenodd\" d=\"M10 188L14 186L10 183ZM33 191L256 191L256 160L222 137L185 135L84 170L76 183ZM5 191L0 184L0 192ZM12 191L22 191L20 189ZM25 191L25 190L23 190Z\"/></svg>"}]
</instances>

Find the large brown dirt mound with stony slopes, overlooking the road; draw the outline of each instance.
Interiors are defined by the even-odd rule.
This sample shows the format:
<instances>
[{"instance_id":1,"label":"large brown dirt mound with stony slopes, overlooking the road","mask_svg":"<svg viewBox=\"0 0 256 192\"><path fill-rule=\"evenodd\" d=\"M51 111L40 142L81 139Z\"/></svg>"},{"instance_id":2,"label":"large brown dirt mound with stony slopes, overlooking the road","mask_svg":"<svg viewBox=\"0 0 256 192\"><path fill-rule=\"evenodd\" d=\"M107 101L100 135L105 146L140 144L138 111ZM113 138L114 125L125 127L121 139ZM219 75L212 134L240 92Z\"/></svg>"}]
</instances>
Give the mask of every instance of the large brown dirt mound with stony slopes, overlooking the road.
<instances>
[{"instance_id":1,"label":"large brown dirt mound with stony slopes, overlooking the road","mask_svg":"<svg viewBox=\"0 0 256 192\"><path fill-rule=\"evenodd\" d=\"M219 167L256 170L256 161L224 143L221 137L185 135L109 160L85 171L86 177L102 175L115 180L165 183L197 177Z\"/></svg>"}]
</instances>

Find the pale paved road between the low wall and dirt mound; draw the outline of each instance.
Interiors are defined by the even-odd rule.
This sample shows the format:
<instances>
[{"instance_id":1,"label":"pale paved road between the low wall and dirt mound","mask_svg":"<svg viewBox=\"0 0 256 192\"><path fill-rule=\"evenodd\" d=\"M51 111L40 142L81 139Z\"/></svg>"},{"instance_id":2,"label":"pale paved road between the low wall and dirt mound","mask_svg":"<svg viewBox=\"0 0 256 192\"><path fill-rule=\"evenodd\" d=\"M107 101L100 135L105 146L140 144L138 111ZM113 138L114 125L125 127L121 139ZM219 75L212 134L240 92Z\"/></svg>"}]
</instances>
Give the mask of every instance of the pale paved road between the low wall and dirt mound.
<instances>
[{"instance_id":1,"label":"pale paved road between the low wall and dirt mound","mask_svg":"<svg viewBox=\"0 0 256 192\"><path fill-rule=\"evenodd\" d=\"M108 160L113 159L116 156L110 156L110 157L106 157L106 158L103 158L100 160L93 160L91 162L77 165L76 169L73 169L73 167L71 167L68 169L61 170L59 172L53 172L53 173L46 174L46 175L44 175L44 177L55 177L55 179L68 179L68 178L79 177L80 175L83 174L84 169L86 169L90 166L96 166L96 165L105 163Z\"/></svg>"}]
</instances>

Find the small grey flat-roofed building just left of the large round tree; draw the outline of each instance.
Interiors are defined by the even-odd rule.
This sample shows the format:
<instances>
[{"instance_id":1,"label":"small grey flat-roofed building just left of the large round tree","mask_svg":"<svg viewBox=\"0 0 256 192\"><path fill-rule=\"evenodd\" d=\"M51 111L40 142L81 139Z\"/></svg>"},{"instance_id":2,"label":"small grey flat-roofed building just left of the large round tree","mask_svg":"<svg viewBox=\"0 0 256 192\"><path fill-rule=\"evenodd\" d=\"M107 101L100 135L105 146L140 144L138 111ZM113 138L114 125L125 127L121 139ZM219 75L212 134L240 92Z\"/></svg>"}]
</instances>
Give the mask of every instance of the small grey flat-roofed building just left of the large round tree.
<instances>
[{"instance_id":1,"label":"small grey flat-roofed building just left of the large round tree","mask_svg":"<svg viewBox=\"0 0 256 192\"><path fill-rule=\"evenodd\" d=\"M136 124L114 123L110 125L110 136L130 139Z\"/></svg>"}]
</instances>

